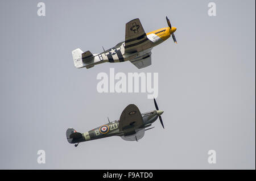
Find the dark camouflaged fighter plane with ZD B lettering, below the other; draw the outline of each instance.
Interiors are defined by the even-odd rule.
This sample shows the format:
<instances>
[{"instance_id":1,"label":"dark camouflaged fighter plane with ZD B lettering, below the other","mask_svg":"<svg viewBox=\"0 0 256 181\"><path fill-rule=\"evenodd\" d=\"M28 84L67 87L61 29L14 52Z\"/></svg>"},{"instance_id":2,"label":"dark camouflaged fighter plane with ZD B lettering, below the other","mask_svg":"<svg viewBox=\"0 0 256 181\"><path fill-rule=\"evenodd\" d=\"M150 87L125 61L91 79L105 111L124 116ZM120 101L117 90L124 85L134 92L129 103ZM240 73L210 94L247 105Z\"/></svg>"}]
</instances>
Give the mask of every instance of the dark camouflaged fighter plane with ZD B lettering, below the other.
<instances>
[{"instance_id":1,"label":"dark camouflaged fighter plane with ZD B lettering, below the other","mask_svg":"<svg viewBox=\"0 0 256 181\"><path fill-rule=\"evenodd\" d=\"M163 128L162 113L158 108L158 104L154 99L154 111L141 113L134 104L128 105L123 110L120 119L104 124L98 128L92 129L85 133L76 132L73 128L68 128L66 132L67 140L71 144L77 146L80 142L96 140L110 136L120 136L126 141L138 141L144 136L145 131L154 127L148 128L156 121L160 120ZM147 128L147 129L146 129Z\"/></svg>"}]
</instances>

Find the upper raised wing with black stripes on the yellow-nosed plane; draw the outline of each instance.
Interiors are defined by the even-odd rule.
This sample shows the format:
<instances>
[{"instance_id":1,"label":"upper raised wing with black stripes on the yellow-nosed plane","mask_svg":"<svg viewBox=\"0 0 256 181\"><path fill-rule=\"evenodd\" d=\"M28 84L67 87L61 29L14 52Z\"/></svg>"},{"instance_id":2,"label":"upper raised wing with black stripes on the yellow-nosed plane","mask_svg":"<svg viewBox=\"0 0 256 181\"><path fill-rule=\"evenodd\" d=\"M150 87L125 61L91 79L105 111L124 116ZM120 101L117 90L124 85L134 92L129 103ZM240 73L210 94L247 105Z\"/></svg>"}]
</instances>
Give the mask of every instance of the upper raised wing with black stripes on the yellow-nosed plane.
<instances>
[{"instance_id":1,"label":"upper raised wing with black stripes on the yellow-nosed plane","mask_svg":"<svg viewBox=\"0 0 256 181\"><path fill-rule=\"evenodd\" d=\"M141 21L138 18L126 23L125 53L140 52L142 50L143 43L147 40L147 35L144 32Z\"/></svg>"}]
</instances>

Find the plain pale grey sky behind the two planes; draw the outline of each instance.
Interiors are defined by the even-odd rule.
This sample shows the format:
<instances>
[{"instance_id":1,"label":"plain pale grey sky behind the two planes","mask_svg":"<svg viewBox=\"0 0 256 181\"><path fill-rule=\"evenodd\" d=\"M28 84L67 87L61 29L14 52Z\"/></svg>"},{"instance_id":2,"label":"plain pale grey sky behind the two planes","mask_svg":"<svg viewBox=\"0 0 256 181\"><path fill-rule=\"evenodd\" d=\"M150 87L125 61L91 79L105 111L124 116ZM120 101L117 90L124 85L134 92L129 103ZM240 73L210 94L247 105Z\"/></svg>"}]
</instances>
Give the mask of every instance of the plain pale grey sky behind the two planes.
<instances>
[{"instance_id":1,"label":"plain pale grey sky behind the two planes","mask_svg":"<svg viewBox=\"0 0 256 181\"><path fill-rule=\"evenodd\" d=\"M40 1L39 1L40 2ZM0 2L0 169L255 169L255 1ZM76 69L72 50L92 53L125 38L139 18L146 32L177 27L152 50L152 65L130 62ZM145 93L96 90L100 72L158 72L159 120L139 142L119 137L67 142L69 127L89 131L137 104L154 110ZM46 163L37 163L37 151ZM217 163L209 164L208 150Z\"/></svg>"}]
</instances>

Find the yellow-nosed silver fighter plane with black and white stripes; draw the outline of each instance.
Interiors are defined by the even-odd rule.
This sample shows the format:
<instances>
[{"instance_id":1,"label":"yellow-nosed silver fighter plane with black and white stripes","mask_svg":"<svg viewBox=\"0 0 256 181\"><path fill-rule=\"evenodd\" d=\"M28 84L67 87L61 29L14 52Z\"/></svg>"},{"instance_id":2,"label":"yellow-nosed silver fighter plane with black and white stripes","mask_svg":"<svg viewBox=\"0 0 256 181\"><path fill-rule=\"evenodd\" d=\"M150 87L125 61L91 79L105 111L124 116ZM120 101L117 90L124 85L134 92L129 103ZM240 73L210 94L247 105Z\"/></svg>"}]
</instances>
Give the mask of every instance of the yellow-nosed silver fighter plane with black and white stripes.
<instances>
[{"instance_id":1,"label":"yellow-nosed silver fighter plane with black and white stripes","mask_svg":"<svg viewBox=\"0 0 256 181\"><path fill-rule=\"evenodd\" d=\"M149 33L145 33L140 20L133 19L126 23L125 41L115 45L115 47L104 50L102 53L92 54L89 50L82 52L81 49L72 51L73 61L76 68L87 69L104 62L123 62L129 60L138 69L151 65L151 50L156 45L167 40L171 35L175 43L175 27L171 26L170 20L166 16L168 27L160 28Z\"/></svg>"}]
</instances>

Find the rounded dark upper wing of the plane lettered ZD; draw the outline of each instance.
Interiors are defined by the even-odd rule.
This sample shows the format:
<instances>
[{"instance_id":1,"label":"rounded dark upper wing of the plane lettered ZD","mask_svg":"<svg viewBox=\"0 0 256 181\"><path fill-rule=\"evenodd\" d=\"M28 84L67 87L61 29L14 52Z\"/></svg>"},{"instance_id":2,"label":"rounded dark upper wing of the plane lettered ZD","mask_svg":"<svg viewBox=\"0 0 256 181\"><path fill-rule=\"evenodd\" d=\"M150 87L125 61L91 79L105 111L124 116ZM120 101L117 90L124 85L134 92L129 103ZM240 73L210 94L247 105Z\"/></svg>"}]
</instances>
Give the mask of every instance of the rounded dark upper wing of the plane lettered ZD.
<instances>
[{"instance_id":1,"label":"rounded dark upper wing of the plane lettered ZD","mask_svg":"<svg viewBox=\"0 0 256 181\"><path fill-rule=\"evenodd\" d=\"M119 119L119 131L132 132L143 124L141 112L134 104L129 104L123 110Z\"/></svg>"}]
</instances>

